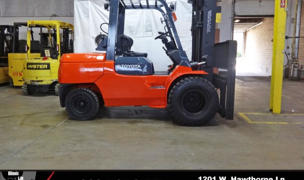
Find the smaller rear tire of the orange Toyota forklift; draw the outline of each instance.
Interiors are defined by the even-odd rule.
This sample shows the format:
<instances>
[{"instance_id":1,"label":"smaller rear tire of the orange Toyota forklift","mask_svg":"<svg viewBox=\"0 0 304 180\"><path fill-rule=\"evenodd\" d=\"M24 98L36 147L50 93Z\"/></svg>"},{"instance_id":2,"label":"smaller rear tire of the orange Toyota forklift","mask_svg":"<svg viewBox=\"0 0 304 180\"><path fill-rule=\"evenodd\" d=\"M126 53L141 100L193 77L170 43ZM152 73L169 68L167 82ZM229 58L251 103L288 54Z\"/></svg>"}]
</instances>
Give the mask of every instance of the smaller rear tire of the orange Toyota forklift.
<instances>
[{"instance_id":1,"label":"smaller rear tire of the orange Toyota forklift","mask_svg":"<svg viewBox=\"0 0 304 180\"><path fill-rule=\"evenodd\" d=\"M98 112L99 99L90 89L74 89L66 96L65 109L75 120L91 120Z\"/></svg>"}]
</instances>

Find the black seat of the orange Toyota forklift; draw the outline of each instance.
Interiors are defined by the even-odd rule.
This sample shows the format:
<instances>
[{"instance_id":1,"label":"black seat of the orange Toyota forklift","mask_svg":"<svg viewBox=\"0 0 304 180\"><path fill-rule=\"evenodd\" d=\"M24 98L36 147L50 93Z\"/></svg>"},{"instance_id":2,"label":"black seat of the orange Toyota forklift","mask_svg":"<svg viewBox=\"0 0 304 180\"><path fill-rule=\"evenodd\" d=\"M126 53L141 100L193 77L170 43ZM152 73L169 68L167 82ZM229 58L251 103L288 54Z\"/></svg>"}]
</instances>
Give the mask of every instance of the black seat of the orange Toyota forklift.
<instances>
[{"instance_id":1,"label":"black seat of the orange Toyota forklift","mask_svg":"<svg viewBox=\"0 0 304 180\"><path fill-rule=\"evenodd\" d=\"M130 57L147 57L147 53L139 53L131 51L131 47L133 45L132 38L128 37L125 34L120 35L121 45L123 56L130 56Z\"/></svg>"}]
</instances>

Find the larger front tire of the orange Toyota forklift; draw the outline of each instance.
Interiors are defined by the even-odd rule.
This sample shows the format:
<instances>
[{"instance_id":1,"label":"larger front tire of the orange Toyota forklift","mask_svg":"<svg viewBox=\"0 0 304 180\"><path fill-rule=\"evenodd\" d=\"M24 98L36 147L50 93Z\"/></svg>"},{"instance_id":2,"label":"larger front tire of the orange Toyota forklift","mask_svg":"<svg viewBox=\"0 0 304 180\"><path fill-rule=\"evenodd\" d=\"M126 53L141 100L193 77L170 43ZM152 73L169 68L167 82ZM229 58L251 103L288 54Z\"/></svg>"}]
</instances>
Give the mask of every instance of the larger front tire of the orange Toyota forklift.
<instances>
[{"instance_id":1,"label":"larger front tire of the orange Toyota forklift","mask_svg":"<svg viewBox=\"0 0 304 180\"><path fill-rule=\"evenodd\" d=\"M171 89L168 104L174 123L202 126L217 113L219 98L209 81L201 77L185 77Z\"/></svg>"}]
</instances>

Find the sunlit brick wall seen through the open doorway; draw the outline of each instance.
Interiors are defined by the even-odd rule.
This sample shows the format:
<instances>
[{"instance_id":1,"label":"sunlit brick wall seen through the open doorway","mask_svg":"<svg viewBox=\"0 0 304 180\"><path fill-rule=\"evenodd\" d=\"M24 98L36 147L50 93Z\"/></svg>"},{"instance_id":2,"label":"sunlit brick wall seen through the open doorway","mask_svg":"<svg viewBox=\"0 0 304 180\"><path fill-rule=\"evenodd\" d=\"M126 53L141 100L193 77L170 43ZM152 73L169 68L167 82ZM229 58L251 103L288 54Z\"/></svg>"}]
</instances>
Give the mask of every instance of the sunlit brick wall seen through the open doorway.
<instances>
[{"instance_id":1,"label":"sunlit brick wall seen through the open doorway","mask_svg":"<svg viewBox=\"0 0 304 180\"><path fill-rule=\"evenodd\" d=\"M274 18L264 18L262 24L245 32L245 61L259 74L271 76Z\"/></svg>"}]
</instances>

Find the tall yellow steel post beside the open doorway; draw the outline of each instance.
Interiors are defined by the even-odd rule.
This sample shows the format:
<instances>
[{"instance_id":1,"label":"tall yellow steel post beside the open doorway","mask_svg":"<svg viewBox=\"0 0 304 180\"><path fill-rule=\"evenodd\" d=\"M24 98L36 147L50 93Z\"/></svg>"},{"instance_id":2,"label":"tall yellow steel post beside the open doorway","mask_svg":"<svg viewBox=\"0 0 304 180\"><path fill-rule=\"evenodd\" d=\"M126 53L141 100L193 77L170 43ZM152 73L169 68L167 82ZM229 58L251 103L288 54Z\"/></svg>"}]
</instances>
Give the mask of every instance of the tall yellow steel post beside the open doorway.
<instances>
[{"instance_id":1,"label":"tall yellow steel post beside the open doorway","mask_svg":"<svg viewBox=\"0 0 304 180\"><path fill-rule=\"evenodd\" d=\"M275 1L270 111L281 113L287 0Z\"/></svg>"}]
</instances>

